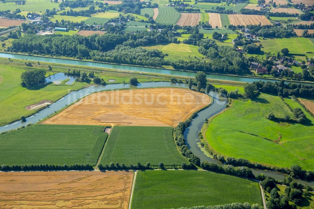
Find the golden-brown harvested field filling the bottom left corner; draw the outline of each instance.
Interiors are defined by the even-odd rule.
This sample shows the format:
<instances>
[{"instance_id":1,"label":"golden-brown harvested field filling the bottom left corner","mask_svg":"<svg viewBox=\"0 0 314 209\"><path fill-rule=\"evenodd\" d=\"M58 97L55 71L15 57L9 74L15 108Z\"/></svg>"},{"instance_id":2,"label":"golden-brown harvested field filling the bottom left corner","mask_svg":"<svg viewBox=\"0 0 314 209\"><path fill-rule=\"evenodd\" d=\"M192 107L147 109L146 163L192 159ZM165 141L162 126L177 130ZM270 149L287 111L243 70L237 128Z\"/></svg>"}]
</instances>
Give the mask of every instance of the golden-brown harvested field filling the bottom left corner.
<instances>
[{"instance_id":1,"label":"golden-brown harvested field filling the bottom left corner","mask_svg":"<svg viewBox=\"0 0 314 209\"><path fill-rule=\"evenodd\" d=\"M128 208L133 171L1 172L0 208Z\"/></svg>"}]
</instances>

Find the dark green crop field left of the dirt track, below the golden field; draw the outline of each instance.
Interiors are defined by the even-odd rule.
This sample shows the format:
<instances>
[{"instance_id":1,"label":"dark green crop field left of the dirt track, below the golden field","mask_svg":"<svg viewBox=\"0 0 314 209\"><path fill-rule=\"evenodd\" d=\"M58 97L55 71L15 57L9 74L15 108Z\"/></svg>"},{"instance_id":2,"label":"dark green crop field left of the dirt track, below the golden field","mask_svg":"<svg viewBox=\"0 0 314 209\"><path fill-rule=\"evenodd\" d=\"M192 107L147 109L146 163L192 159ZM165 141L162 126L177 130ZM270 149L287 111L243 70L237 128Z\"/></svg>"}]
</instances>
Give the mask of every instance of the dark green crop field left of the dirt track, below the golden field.
<instances>
[{"instance_id":1,"label":"dark green crop field left of the dirt track, below the golden field","mask_svg":"<svg viewBox=\"0 0 314 209\"><path fill-rule=\"evenodd\" d=\"M32 125L0 135L0 164L95 165L107 134L103 126Z\"/></svg>"}]
</instances>

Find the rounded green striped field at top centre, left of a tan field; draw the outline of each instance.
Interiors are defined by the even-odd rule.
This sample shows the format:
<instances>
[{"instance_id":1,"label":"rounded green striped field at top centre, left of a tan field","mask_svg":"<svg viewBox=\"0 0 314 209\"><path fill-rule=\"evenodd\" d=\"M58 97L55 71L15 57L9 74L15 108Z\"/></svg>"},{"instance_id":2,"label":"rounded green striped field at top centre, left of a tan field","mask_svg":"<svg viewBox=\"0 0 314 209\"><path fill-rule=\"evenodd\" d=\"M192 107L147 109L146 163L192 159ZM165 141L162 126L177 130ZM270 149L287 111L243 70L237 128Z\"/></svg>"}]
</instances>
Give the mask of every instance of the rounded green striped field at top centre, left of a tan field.
<instances>
[{"instance_id":1,"label":"rounded green striped field at top centre, left of a tan field","mask_svg":"<svg viewBox=\"0 0 314 209\"><path fill-rule=\"evenodd\" d=\"M160 7L158 8L158 16L156 17L155 21L157 23L175 25L180 19L180 16L181 13L177 12L173 7Z\"/></svg>"}]
</instances>

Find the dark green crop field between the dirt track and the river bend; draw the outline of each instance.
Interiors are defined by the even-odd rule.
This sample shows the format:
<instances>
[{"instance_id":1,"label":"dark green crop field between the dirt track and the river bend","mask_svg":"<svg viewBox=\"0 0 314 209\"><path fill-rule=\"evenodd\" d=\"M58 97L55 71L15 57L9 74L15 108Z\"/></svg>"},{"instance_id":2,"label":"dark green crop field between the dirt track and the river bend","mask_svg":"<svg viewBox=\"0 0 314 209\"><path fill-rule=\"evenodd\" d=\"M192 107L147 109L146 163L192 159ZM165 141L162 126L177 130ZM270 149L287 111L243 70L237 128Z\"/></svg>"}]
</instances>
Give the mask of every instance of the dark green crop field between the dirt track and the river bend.
<instances>
[{"instance_id":1,"label":"dark green crop field between the dirt track and the river bend","mask_svg":"<svg viewBox=\"0 0 314 209\"><path fill-rule=\"evenodd\" d=\"M181 165L186 159L176 148L172 127L114 126L100 163Z\"/></svg>"}]
</instances>

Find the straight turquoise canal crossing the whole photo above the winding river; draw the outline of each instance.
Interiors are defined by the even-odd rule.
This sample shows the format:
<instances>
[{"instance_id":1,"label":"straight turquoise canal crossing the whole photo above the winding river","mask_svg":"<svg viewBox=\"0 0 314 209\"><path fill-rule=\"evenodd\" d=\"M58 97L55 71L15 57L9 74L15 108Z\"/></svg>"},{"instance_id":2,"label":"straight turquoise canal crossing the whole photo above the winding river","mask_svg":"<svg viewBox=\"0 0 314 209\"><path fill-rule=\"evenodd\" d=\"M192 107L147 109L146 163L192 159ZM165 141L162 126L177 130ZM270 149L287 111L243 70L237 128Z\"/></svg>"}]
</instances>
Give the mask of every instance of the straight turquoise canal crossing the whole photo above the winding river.
<instances>
[{"instance_id":1,"label":"straight turquoise canal crossing the whole photo above the winding river","mask_svg":"<svg viewBox=\"0 0 314 209\"><path fill-rule=\"evenodd\" d=\"M3 52L0 53L0 57L12 58L12 59L23 59L23 60L36 61L36 62L37 61L38 62L50 62L50 63L67 64L67 65L78 65L78 66L88 66L88 67L110 68L110 69L117 69L117 70L157 73L157 74L165 74L165 75L172 75L172 76L195 77L195 72L168 70L168 69L152 68L152 67L108 64L108 63L102 63L102 62L90 62L90 61L43 57L43 56L28 56L28 55L3 53ZM249 78L249 77L217 75L217 74L208 74L207 78L216 79L216 80L238 81L238 82L245 82L245 83L246 82L252 83L254 81L264 81L264 82L278 81L278 80L272 80L272 79ZM291 82L286 81L286 83L291 83ZM294 82L294 83L300 83L300 82ZM305 84L305 83L300 83L300 84ZM306 83L306 84L314 85L314 83Z\"/></svg>"}]
</instances>

